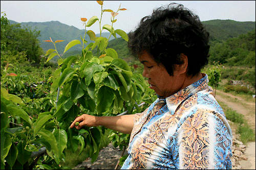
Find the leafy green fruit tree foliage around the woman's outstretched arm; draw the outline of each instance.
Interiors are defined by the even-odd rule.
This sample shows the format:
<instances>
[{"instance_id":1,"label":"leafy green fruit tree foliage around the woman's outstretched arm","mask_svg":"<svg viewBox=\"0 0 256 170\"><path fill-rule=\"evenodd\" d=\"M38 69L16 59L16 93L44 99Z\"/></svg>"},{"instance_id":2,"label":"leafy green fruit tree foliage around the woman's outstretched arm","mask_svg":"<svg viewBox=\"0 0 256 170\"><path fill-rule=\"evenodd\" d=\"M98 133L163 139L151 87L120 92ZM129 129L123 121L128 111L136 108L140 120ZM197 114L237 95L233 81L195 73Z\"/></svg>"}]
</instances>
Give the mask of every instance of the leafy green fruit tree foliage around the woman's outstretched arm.
<instances>
[{"instance_id":1,"label":"leafy green fruit tree foliage around the woman's outstretched arm","mask_svg":"<svg viewBox=\"0 0 256 170\"><path fill-rule=\"evenodd\" d=\"M110 36L94 37L93 31L85 31L84 37L80 37L82 42L72 40L63 51L64 54L75 45L81 45L81 56L61 58L57 45L63 40L52 41L50 38L46 42L53 43L55 49L46 52L45 61L48 63L53 57L59 57L58 68L54 71L45 70L43 67L36 70L31 67L15 67L9 63L17 62L13 53L9 54L11 60L3 64L5 69L1 69L1 169L67 169L68 167L60 166L66 159L65 148L78 155L84 148L88 148L88 156L94 162L101 143L105 142L102 137L105 129L70 129L75 117L82 113L115 116L127 111L127 114L134 114L141 112L137 103L145 102L142 108L144 109L156 99L154 90L148 88L143 77L133 74L130 66L118 58L118 53L107 47L111 35L116 37L118 34L125 41L127 35L113 28L117 13L102 10L103 2L98 3L102 13L112 12L111 26L102 27L102 30L110 32ZM117 12L122 10L126 9L119 7ZM97 21L100 23L101 17L98 19L94 16L87 24L86 18L81 20L85 27L90 27ZM19 29L17 25L12 28ZM91 34L93 42L88 43L85 40L86 34ZM93 49L97 51L96 56L92 53ZM27 69L27 73L31 72L31 75L19 72L24 69ZM115 146L126 147L129 135L111 133L116 137L113 138L116 140ZM31 157L32 153L44 147L46 155L37 155L35 159Z\"/></svg>"}]
</instances>

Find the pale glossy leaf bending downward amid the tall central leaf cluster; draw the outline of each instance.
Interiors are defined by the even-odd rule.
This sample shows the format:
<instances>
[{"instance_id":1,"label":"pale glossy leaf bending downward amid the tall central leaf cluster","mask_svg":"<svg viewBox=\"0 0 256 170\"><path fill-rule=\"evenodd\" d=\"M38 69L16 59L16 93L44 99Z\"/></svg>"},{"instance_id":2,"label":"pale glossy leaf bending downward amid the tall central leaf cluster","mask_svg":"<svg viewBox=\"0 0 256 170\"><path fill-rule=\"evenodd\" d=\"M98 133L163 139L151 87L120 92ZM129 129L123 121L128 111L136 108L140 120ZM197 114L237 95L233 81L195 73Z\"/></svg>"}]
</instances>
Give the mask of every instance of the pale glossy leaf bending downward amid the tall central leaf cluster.
<instances>
[{"instance_id":1,"label":"pale glossy leaf bending downward amid the tall central leaf cluster","mask_svg":"<svg viewBox=\"0 0 256 170\"><path fill-rule=\"evenodd\" d=\"M103 66L99 65L98 63L92 62L92 63L88 64L83 70L83 74L86 78L86 86L90 85L91 79L92 79L94 73L96 71L102 71L102 70L103 70Z\"/></svg>"}]
</instances>

